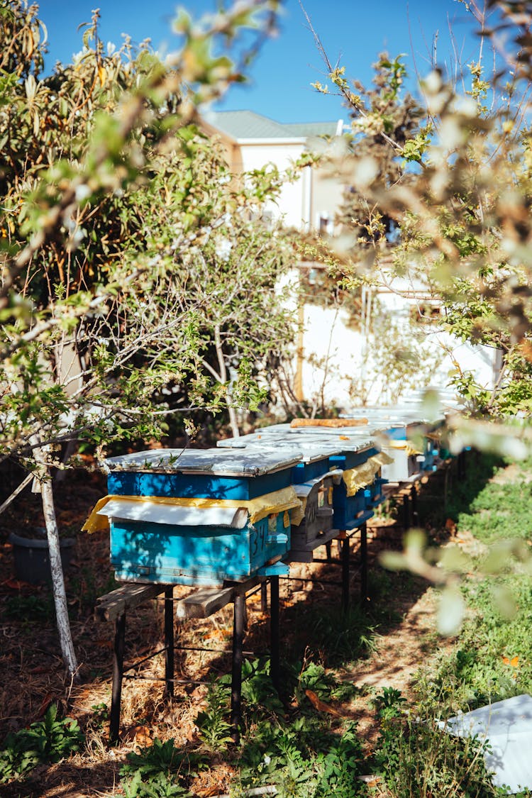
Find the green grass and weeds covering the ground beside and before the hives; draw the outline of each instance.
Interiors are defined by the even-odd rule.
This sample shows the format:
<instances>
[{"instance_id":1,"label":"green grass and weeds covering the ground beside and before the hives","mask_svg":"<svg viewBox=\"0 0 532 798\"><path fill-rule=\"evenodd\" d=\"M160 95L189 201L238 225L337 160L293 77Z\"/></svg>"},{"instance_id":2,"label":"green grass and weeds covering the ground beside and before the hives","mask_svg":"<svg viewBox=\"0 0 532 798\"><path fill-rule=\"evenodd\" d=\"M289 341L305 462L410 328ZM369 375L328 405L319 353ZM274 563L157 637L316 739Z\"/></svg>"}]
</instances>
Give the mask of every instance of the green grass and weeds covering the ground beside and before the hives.
<instances>
[{"instance_id":1,"label":"green grass and weeds covering the ground beside and before the hives","mask_svg":"<svg viewBox=\"0 0 532 798\"><path fill-rule=\"evenodd\" d=\"M71 721L57 713L51 748L49 744L53 757L46 759L42 753L40 767L49 764L50 772L58 768L59 774L61 768L69 767L68 772L88 771L88 796L163 798L205 796L217 790L237 798L272 784L282 798L495 798L503 794L486 772L482 745L442 733L438 721L488 701L532 692L532 591L530 559L525 556L532 530L530 480L532 461L506 468L494 458L473 455L467 478L453 481L444 511L441 502L420 496L420 512L436 539L443 538L445 522L452 519L457 539L467 533L481 545L461 587L468 608L462 629L441 654L434 654L439 641L433 630L415 641L424 666L412 681L405 678L402 685L376 689L345 681L345 674L356 671L361 662L366 673L378 665L383 646L388 645L388 631L403 628L403 615L426 590L420 579L382 571L374 564L372 602L365 611L353 606L342 616L338 591L336 606L330 595L326 600L325 592L313 591L305 601L295 601L286 593L281 694L271 684L267 659L245 661L239 745L230 737L231 680L223 675L229 670L227 657L197 654L192 660L183 655L178 657L178 670L195 678L211 674L209 687L199 686L191 693L178 690L168 704L159 687L125 682L122 721L135 731L120 748L109 751L105 741L108 681L86 684L77 693L77 715L72 702L63 713L68 709L69 717L79 718L83 738ZM435 483L427 487L434 492ZM519 543L510 545L508 539ZM503 567L499 567L495 561L502 559ZM72 591L77 614L83 618L101 587L84 566L73 580ZM48 610L43 598L39 597L39 622L44 623ZM10 599L7 614L15 618L27 610L33 615L33 604L30 596ZM258 608L253 612L250 645L259 650L266 642L267 623ZM157 639L162 621L155 606L144 614L139 610L138 618L133 614L130 622L136 638L128 638L133 646L128 658L145 653L142 646L148 637L150 643ZM227 642L230 629L231 612L223 610L204 622L183 625L179 635L188 645L216 648ZM34 633L34 627L29 633ZM400 648L397 654L400 657ZM31 728L43 737L44 727ZM73 737L75 745L70 749L63 745L65 734L66 743L69 734ZM10 796L45 795L42 772L32 792L32 774L26 772L26 764L19 763L26 752L25 740L23 734L11 735L4 742L0 784L3 779ZM70 750L77 749L72 758L57 763L58 753L68 757ZM100 769L108 773L107 784L87 788L90 771L96 774ZM17 772L18 780L13 780ZM374 783L361 780L362 775L375 776Z\"/></svg>"}]
</instances>

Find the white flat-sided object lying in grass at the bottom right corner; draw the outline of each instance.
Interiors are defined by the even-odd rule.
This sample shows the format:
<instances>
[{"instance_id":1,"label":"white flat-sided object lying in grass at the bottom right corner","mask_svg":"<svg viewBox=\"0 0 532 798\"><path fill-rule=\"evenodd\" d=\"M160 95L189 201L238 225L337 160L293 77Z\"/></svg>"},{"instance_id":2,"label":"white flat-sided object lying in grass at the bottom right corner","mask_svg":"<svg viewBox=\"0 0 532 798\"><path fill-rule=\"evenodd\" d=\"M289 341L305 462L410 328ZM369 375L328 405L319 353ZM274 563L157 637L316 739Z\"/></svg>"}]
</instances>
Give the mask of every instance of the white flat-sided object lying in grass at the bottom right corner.
<instances>
[{"instance_id":1,"label":"white flat-sided object lying in grass at the bottom right corner","mask_svg":"<svg viewBox=\"0 0 532 798\"><path fill-rule=\"evenodd\" d=\"M514 696L451 717L442 728L459 737L479 737L491 751L485 755L494 783L510 793L532 789L532 697Z\"/></svg>"}]
</instances>

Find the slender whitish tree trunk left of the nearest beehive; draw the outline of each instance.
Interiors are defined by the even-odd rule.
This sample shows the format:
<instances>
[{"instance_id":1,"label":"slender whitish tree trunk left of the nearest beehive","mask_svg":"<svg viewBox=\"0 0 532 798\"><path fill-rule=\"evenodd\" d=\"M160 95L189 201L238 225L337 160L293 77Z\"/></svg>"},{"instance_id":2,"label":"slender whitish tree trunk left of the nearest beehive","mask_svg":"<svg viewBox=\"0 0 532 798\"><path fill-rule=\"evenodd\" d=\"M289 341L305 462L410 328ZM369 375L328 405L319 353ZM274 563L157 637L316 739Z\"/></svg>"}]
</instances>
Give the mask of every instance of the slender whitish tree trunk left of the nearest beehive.
<instances>
[{"instance_id":1,"label":"slender whitish tree trunk left of the nearest beehive","mask_svg":"<svg viewBox=\"0 0 532 798\"><path fill-rule=\"evenodd\" d=\"M70 631L69 610L66 604L65 578L63 576L61 549L59 546L59 531L57 529L55 506L53 504L52 480L43 450L41 448L35 449L34 456L37 463L41 466L39 470L41 476L42 512L45 516L46 536L48 538L50 571L52 572L53 602L55 604L57 631L59 632L61 654L63 656L63 662L65 662L65 668L69 674L69 677L75 680L77 677L77 660L76 654L74 652L72 633Z\"/></svg>"}]
</instances>

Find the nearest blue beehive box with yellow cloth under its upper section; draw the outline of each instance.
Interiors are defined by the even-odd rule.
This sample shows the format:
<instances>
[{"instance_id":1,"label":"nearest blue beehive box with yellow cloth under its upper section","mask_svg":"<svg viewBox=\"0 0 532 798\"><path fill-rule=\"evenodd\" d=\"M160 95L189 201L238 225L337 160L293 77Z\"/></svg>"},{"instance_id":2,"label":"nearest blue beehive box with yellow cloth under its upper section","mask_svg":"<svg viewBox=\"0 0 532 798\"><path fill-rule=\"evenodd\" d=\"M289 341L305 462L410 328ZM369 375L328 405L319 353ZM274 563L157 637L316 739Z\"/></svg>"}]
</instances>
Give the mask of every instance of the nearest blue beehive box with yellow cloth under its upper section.
<instances>
[{"instance_id":1,"label":"nearest blue beehive box with yellow cloth under its upper section","mask_svg":"<svg viewBox=\"0 0 532 798\"><path fill-rule=\"evenodd\" d=\"M286 572L294 453L159 449L106 461L111 563L128 582L221 586Z\"/></svg>"}]
</instances>

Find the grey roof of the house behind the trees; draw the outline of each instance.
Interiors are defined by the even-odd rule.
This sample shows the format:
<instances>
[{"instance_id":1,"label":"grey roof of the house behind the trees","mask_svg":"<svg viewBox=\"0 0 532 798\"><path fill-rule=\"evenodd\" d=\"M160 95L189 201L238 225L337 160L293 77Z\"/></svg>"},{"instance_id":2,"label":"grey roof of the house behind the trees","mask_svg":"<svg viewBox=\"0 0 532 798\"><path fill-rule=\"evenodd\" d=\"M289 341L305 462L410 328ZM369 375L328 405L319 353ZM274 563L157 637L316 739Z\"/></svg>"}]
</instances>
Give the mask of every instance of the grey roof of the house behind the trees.
<instances>
[{"instance_id":1,"label":"grey roof of the house behind the trees","mask_svg":"<svg viewBox=\"0 0 532 798\"><path fill-rule=\"evenodd\" d=\"M234 139L287 139L309 136L334 136L337 122L298 122L285 124L254 111L211 112L207 122Z\"/></svg>"}]
</instances>

